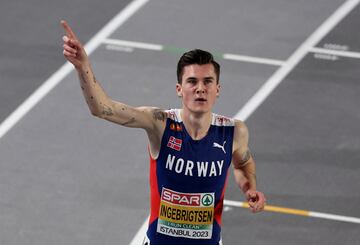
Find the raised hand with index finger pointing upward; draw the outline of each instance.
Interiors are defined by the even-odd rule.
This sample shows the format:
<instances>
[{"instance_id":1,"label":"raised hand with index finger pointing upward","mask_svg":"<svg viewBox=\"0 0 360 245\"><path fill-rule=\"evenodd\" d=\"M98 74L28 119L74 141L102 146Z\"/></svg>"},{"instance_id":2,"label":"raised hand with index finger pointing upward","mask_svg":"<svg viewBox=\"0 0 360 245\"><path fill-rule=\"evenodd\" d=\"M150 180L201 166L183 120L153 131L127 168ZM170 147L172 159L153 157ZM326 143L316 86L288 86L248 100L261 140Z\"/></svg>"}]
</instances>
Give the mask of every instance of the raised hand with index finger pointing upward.
<instances>
[{"instance_id":1,"label":"raised hand with index finger pointing upward","mask_svg":"<svg viewBox=\"0 0 360 245\"><path fill-rule=\"evenodd\" d=\"M75 66L75 68L80 68L88 63L88 57L85 49L65 20L61 21L61 25L65 30L65 35L63 36L63 54L65 58Z\"/></svg>"}]
</instances>

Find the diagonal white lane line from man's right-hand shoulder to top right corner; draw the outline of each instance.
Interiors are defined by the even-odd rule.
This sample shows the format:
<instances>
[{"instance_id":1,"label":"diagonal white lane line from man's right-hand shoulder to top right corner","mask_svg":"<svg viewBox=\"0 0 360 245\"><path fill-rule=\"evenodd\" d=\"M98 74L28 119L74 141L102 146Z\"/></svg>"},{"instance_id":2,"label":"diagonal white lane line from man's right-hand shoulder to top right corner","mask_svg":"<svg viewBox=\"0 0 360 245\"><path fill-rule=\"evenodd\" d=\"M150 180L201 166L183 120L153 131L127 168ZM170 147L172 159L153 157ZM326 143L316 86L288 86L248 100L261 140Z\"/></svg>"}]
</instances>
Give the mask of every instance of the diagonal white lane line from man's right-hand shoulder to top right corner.
<instances>
[{"instance_id":1,"label":"diagonal white lane line from man's right-hand shoulder to top right corner","mask_svg":"<svg viewBox=\"0 0 360 245\"><path fill-rule=\"evenodd\" d=\"M320 25L289 57L281 66L253 95L253 97L236 113L234 118L245 121L274 91L274 89L284 80L284 78L295 68L295 66L305 57L305 55L328 34L351 10L353 10L360 0L348 0L341 5L322 25Z\"/></svg>"}]
</instances>

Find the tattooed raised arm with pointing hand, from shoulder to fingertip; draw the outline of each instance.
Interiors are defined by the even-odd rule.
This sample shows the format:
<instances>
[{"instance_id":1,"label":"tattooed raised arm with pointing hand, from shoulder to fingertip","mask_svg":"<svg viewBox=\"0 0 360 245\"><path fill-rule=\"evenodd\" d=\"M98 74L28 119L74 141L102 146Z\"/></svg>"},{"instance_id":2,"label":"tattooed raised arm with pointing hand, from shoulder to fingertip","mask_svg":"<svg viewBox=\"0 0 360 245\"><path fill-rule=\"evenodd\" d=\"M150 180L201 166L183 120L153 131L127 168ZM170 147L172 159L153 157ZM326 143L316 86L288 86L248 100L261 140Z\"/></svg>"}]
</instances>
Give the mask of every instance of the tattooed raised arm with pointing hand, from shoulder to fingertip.
<instances>
[{"instance_id":1,"label":"tattooed raised arm with pointing hand, from shoulder to fingertip","mask_svg":"<svg viewBox=\"0 0 360 245\"><path fill-rule=\"evenodd\" d=\"M61 25L65 30L63 54L78 73L80 87L91 113L126 127L145 129L150 141L150 151L156 156L167 114L159 108L132 107L109 98L95 78L83 45L66 21L61 21Z\"/></svg>"}]
</instances>

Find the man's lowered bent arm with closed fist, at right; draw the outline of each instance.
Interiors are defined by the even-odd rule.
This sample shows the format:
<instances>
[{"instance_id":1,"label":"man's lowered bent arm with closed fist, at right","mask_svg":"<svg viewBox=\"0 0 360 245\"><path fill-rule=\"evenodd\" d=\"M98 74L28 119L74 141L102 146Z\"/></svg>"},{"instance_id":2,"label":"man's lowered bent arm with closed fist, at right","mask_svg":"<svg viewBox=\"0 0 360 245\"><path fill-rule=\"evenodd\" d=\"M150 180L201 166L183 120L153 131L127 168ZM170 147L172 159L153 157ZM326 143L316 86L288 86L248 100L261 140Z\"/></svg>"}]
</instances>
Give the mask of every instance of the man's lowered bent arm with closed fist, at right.
<instances>
[{"instance_id":1,"label":"man's lowered bent arm with closed fist, at right","mask_svg":"<svg viewBox=\"0 0 360 245\"><path fill-rule=\"evenodd\" d=\"M243 191L252 212L264 209L265 196L257 191L255 161L248 147L249 133L246 125L236 121L233 144L233 167L237 185Z\"/></svg>"}]
</instances>

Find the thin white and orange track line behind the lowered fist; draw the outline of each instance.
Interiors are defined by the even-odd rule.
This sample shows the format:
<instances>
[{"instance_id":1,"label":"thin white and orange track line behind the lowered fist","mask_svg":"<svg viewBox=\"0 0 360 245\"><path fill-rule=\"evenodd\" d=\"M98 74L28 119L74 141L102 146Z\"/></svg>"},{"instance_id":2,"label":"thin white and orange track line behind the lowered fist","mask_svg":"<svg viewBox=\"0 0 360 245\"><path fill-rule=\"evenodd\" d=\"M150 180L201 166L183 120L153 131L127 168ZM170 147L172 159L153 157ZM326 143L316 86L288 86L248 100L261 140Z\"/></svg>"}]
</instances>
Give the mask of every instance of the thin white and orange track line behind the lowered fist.
<instances>
[{"instance_id":1,"label":"thin white and orange track line behind the lowered fist","mask_svg":"<svg viewBox=\"0 0 360 245\"><path fill-rule=\"evenodd\" d=\"M224 205L231 207L238 207L238 208L248 208L248 204L245 202L238 202L231 200L224 200ZM337 215L337 214L319 213L319 212L313 212L307 210L290 209L285 207L275 207L269 205L265 206L265 211L360 224L360 218Z\"/></svg>"}]
</instances>

